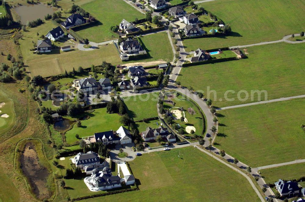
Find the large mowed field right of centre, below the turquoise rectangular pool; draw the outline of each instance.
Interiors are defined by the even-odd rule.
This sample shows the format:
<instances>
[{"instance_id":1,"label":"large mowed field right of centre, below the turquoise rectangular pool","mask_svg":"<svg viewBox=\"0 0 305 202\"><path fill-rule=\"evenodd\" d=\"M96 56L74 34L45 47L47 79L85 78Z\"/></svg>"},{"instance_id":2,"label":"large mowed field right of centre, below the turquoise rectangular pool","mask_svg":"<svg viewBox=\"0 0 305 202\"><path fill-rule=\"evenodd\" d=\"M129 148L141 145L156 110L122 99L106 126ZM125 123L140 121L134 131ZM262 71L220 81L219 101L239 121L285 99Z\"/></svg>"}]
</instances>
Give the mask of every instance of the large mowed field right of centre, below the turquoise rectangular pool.
<instances>
[{"instance_id":1,"label":"large mowed field right of centre, below the turquoise rectangular pool","mask_svg":"<svg viewBox=\"0 0 305 202\"><path fill-rule=\"evenodd\" d=\"M248 59L215 64L203 64L181 69L178 81L181 85L203 90L208 97L207 88L215 90L217 98L210 93L213 105L218 107L260 101L257 93L251 99L251 90L267 91L267 99L276 99L305 94L304 50L305 44L277 43L248 48ZM226 100L224 93L229 92ZM240 94L238 92L245 90ZM234 99L229 101L229 99ZM221 99L221 100L220 100ZM261 100L265 99L264 93Z\"/></svg>"}]
</instances>

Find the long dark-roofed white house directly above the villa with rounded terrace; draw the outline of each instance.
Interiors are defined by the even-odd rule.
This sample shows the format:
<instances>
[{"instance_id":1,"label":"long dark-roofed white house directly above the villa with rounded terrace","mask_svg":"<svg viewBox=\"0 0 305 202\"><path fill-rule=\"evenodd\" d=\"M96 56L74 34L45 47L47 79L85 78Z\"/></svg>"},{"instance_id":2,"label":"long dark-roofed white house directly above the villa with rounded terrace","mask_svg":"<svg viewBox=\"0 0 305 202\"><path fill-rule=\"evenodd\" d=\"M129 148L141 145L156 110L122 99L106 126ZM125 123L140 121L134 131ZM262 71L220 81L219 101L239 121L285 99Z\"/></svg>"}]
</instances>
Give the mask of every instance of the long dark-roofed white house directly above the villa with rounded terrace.
<instances>
[{"instance_id":1,"label":"long dark-roofed white house directly above the villa with rounded terrace","mask_svg":"<svg viewBox=\"0 0 305 202\"><path fill-rule=\"evenodd\" d=\"M77 167L84 169L84 166L87 165L93 165L95 167L98 167L100 165L99 163L99 156L95 152L87 152L87 153L82 153L79 152L75 157L74 157L74 163Z\"/></svg>"}]
</instances>

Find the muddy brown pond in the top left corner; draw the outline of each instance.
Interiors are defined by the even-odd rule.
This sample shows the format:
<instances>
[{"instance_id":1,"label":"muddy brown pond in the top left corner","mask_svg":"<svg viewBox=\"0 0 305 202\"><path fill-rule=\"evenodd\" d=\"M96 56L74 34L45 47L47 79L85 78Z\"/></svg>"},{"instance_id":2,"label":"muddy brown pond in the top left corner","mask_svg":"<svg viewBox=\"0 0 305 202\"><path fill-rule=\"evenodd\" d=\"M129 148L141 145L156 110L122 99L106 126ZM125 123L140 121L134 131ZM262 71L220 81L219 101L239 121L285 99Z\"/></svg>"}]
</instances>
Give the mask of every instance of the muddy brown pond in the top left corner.
<instances>
[{"instance_id":1,"label":"muddy brown pond in the top left corner","mask_svg":"<svg viewBox=\"0 0 305 202\"><path fill-rule=\"evenodd\" d=\"M21 23L26 25L27 21L33 21L38 18L44 19L47 14L52 15L56 9L48 7L43 4L34 4L34 5L22 5L15 8L17 14L20 16Z\"/></svg>"}]
</instances>

